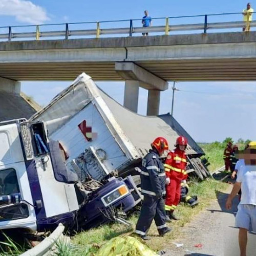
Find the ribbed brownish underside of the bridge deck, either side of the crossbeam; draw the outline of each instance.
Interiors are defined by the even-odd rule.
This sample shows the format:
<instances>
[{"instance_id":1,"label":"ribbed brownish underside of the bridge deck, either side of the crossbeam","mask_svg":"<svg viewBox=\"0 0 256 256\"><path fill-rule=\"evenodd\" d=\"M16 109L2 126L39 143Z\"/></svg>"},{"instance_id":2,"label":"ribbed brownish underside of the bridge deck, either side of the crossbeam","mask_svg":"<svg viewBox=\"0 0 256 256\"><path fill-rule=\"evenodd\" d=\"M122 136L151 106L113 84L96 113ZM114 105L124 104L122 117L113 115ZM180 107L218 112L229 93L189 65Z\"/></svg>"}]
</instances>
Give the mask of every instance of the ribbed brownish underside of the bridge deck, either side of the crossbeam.
<instances>
[{"instance_id":1,"label":"ribbed brownish underside of the bridge deck, either side of the crossbeam","mask_svg":"<svg viewBox=\"0 0 256 256\"><path fill-rule=\"evenodd\" d=\"M256 58L133 61L166 81L256 80ZM124 80L115 62L0 63L0 77L17 81L73 80L86 72L96 81Z\"/></svg>"}]
</instances>

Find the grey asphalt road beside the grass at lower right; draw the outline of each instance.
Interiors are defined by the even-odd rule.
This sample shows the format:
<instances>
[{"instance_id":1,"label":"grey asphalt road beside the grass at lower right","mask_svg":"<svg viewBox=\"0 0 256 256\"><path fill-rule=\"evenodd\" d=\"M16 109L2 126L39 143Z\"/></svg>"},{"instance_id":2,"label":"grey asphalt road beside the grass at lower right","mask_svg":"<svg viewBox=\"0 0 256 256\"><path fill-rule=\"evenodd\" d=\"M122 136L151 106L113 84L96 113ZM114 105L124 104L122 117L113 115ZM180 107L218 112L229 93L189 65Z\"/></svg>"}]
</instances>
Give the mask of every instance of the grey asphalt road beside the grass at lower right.
<instances>
[{"instance_id":1,"label":"grey asphalt road beside the grass at lower right","mask_svg":"<svg viewBox=\"0 0 256 256\"><path fill-rule=\"evenodd\" d=\"M231 188L230 185L230 190ZM219 194L218 200L183 227L182 238L175 241L176 245L172 243L165 248L164 256L240 256L239 230L234 227L238 198L233 200L232 210L227 211L225 209L227 196L228 192ZM256 234L249 233L247 256L254 255L256 255Z\"/></svg>"}]
</instances>

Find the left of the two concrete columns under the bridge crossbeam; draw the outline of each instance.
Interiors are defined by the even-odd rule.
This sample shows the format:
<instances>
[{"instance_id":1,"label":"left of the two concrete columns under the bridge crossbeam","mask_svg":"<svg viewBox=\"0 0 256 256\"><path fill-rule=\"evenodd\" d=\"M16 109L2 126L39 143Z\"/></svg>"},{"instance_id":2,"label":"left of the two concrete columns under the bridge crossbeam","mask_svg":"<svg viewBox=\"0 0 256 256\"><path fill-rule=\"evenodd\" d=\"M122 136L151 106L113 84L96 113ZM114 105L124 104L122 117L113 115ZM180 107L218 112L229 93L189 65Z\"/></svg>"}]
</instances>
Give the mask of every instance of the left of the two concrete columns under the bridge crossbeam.
<instances>
[{"instance_id":1,"label":"left of the two concrete columns under the bridge crossbeam","mask_svg":"<svg viewBox=\"0 0 256 256\"><path fill-rule=\"evenodd\" d=\"M124 101L125 108L137 113L139 100L139 86L140 82L136 80L126 80L124 87Z\"/></svg>"}]
</instances>

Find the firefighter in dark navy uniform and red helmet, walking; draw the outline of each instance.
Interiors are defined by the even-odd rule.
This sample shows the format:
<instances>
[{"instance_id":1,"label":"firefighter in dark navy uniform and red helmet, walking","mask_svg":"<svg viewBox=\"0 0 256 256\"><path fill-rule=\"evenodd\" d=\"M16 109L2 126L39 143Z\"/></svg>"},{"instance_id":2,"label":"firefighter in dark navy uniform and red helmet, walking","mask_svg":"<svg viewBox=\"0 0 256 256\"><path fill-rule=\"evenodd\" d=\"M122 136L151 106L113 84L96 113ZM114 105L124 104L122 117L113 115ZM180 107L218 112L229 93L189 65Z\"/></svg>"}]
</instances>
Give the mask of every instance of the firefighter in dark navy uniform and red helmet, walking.
<instances>
[{"instance_id":1,"label":"firefighter in dark navy uniform and red helmet, walking","mask_svg":"<svg viewBox=\"0 0 256 256\"><path fill-rule=\"evenodd\" d=\"M163 196L165 195L165 172L161 155L168 150L165 138L158 137L151 144L152 150L142 159L140 172L141 193L144 196L140 217L135 232L143 239L149 239L146 234L155 220L160 236L172 229L166 225Z\"/></svg>"}]
</instances>

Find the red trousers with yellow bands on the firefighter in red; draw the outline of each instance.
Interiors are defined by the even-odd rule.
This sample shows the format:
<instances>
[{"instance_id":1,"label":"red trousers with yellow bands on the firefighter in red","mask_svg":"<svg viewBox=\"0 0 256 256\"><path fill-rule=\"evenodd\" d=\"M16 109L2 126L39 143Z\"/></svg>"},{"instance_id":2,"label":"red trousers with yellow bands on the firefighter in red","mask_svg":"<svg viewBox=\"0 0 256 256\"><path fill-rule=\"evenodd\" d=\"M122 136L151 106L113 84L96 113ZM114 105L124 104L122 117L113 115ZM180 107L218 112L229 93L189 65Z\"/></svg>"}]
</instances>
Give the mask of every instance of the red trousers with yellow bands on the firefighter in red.
<instances>
[{"instance_id":1,"label":"red trousers with yellow bands on the firefighter in red","mask_svg":"<svg viewBox=\"0 0 256 256\"><path fill-rule=\"evenodd\" d=\"M170 179L170 184L166 185L165 210L173 211L180 202L180 180Z\"/></svg>"}]
</instances>

